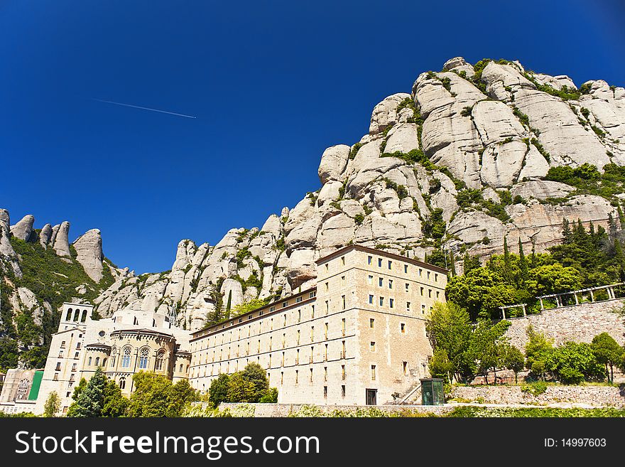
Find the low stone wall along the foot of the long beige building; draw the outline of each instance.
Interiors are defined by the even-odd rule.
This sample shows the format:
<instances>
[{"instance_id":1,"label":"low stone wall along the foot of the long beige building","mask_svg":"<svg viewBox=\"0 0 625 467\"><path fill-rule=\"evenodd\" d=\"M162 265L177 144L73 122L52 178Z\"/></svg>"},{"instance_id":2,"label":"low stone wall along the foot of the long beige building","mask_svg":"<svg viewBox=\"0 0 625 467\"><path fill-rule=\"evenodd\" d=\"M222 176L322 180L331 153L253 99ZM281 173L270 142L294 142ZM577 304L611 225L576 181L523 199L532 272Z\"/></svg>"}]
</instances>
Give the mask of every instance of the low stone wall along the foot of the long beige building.
<instances>
[{"instance_id":1,"label":"low stone wall along the foot of the long beige building","mask_svg":"<svg viewBox=\"0 0 625 467\"><path fill-rule=\"evenodd\" d=\"M288 417L290 413L298 412L303 404L245 404L254 406L254 417ZM230 409L236 411L237 407L240 407L240 403L235 402L222 402L219 404L219 410ZM316 409L324 414L331 414L335 410L341 410L343 412L356 411L358 409L374 408L381 412L403 412L405 410L419 411L431 414L445 414L450 412L453 407L450 405L378 405L378 406L366 406L366 405L315 405Z\"/></svg>"}]
</instances>

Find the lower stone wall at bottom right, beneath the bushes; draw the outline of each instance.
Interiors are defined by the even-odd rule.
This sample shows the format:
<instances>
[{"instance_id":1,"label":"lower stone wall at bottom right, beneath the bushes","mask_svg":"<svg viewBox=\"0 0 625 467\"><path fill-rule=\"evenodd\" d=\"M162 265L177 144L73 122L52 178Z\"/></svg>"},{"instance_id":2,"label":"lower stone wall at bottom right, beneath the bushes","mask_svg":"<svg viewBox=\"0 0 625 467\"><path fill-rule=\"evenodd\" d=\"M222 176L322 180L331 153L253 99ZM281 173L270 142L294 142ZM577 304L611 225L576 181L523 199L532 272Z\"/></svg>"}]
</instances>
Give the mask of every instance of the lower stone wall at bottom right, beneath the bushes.
<instances>
[{"instance_id":1,"label":"lower stone wall at bottom right, beneath the bushes","mask_svg":"<svg viewBox=\"0 0 625 467\"><path fill-rule=\"evenodd\" d=\"M593 407L625 408L625 386L548 386L543 394L523 392L521 386L457 386L450 397L459 402L544 405L568 402Z\"/></svg>"}]
</instances>

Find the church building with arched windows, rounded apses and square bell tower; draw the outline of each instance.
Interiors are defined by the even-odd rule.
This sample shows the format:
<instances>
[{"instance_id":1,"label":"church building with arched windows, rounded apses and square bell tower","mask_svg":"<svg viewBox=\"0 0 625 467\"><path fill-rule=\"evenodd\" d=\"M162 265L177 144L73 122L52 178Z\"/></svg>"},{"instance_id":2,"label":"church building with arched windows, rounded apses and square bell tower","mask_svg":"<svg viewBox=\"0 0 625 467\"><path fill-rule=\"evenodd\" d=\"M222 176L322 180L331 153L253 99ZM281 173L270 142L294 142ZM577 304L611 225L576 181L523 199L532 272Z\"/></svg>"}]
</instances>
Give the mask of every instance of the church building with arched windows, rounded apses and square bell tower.
<instances>
[{"instance_id":1,"label":"church building with arched windows, rounded apses and square bell tower","mask_svg":"<svg viewBox=\"0 0 625 467\"><path fill-rule=\"evenodd\" d=\"M81 378L89 380L97 367L129 395L132 376L153 371L176 381L188 377L189 333L167 316L121 310L110 318L92 320L90 305L63 304L58 332L53 334L35 413L43 412L50 392L61 399L62 413L73 402ZM4 392L3 392L4 393Z\"/></svg>"}]
</instances>

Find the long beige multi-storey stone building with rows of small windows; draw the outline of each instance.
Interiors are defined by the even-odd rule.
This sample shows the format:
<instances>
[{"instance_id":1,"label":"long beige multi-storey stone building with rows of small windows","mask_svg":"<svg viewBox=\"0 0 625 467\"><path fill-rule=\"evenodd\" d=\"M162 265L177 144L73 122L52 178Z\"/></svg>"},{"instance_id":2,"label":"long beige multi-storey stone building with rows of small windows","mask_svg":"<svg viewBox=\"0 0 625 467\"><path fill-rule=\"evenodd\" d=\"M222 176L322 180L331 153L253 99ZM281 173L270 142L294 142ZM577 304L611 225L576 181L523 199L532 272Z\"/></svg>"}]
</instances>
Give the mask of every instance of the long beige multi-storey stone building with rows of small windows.
<instances>
[{"instance_id":1,"label":"long beige multi-storey stone building with rows of small windows","mask_svg":"<svg viewBox=\"0 0 625 467\"><path fill-rule=\"evenodd\" d=\"M192 387L256 362L278 402L382 404L428 376L425 316L445 301L445 269L381 250L317 260L317 287L192 333Z\"/></svg>"}]
</instances>

